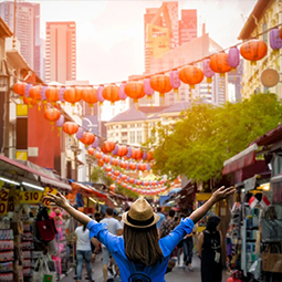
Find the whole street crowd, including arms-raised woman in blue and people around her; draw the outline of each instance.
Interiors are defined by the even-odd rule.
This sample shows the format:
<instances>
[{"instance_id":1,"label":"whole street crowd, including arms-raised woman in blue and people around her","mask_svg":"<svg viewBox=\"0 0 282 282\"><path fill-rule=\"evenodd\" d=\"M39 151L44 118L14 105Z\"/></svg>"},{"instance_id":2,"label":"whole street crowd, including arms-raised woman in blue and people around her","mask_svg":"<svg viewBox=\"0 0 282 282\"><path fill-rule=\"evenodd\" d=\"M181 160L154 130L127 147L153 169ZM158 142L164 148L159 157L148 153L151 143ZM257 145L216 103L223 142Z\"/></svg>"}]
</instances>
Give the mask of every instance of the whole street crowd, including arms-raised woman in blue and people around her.
<instances>
[{"instance_id":1,"label":"whole street crowd, including arms-raised woman in blue and people around her","mask_svg":"<svg viewBox=\"0 0 282 282\"><path fill-rule=\"evenodd\" d=\"M95 281L91 263L98 252L102 252L103 258L104 282L161 282L176 263L178 268L194 271L192 255L196 249L201 259L201 281L221 282L220 218L209 217L207 229L198 236L197 248L195 223L213 203L232 194L233 189L218 189L206 205L189 216L176 213L173 209L165 215L160 207L154 212L152 206L139 198L123 215L116 215L112 208L107 208L105 215L93 215L94 220L71 207L62 195L52 195L51 198L80 222L75 229L76 282L82 279L83 262L87 280ZM130 280L133 274L139 280Z\"/></svg>"}]
</instances>

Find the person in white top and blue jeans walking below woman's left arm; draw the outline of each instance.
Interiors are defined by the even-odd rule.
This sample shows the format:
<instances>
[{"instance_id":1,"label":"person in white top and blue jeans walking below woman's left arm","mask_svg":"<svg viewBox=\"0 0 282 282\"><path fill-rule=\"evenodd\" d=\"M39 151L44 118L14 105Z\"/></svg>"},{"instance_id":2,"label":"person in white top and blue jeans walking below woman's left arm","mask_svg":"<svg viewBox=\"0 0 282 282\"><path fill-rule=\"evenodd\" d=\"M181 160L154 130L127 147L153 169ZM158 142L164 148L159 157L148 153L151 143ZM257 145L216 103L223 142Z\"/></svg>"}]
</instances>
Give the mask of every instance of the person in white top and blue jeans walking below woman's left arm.
<instances>
[{"instance_id":1,"label":"person in white top and blue jeans walking below woman's left arm","mask_svg":"<svg viewBox=\"0 0 282 282\"><path fill-rule=\"evenodd\" d=\"M92 267L91 267L91 259L92 259L92 250L91 250L91 239L90 239L90 231L86 229L86 226L80 226L75 229L75 237L76 237L76 282L81 281L82 278L82 267L83 261L85 261L86 270L87 270L87 279L90 282L94 282L95 280L92 279Z\"/></svg>"}]
</instances>

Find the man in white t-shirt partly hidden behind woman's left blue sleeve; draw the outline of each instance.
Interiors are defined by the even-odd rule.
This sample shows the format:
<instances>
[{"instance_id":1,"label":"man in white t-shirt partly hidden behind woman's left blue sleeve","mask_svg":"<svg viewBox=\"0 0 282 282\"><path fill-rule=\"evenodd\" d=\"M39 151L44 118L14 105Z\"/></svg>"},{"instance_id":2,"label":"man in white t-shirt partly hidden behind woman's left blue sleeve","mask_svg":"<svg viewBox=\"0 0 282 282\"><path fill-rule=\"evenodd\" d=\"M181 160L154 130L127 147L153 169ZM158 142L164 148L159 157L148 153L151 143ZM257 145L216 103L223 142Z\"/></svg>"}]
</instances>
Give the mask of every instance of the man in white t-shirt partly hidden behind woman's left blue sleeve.
<instances>
[{"instance_id":1,"label":"man in white t-shirt partly hidden behind woman's left blue sleeve","mask_svg":"<svg viewBox=\"0 0 282 282\"><path fill-rule=\"evenodd\" d=\"M106 209L105 218L100 221L101 223L107 224L107 230L111 234L122 236L123 228L117 219L114 218L114 210L112 208ZM103 243L103 242L102 242ZM113 264L115 265L115 272L118 274L118 267L112 257L112 253L106 248L105 244L102 244L102 257L103 257L103 276L104 282L107 281L107 271L113 275Z\"/></svg>"}]
</instances>

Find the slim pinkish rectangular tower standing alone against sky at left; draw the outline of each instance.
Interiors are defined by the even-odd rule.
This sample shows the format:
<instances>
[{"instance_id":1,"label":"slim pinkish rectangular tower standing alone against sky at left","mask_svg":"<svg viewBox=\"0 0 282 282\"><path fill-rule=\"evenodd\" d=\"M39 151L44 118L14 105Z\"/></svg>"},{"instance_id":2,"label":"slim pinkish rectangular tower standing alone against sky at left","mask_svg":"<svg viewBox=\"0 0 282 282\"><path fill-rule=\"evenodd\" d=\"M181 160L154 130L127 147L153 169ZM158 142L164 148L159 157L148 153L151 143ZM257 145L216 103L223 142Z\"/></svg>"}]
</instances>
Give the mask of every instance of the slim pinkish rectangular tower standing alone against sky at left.
<instances>
[{"instance_id":1,"label":"slim pinkish rectangular tower standing alone against sky at left","mask_svg":"<svg viewBox=\"0 0 282 282\"><path fill-rule=\"evenodd\" d=\"M76 24L46 22L45 81L76 80Z\"/></svg>"}]
</instances>

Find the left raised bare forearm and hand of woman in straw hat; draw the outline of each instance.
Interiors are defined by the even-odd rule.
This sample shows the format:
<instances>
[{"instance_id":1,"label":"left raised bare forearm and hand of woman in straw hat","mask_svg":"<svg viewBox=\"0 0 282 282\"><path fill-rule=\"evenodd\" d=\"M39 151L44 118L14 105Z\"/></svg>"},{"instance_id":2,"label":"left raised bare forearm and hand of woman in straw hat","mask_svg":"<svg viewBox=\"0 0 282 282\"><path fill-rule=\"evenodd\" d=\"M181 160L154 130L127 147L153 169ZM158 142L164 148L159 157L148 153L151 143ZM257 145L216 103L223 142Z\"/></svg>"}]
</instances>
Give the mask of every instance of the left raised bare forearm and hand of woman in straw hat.
<instances>
[{"instance_id":1,"label":"left raised bare forearm and hand of woman in straw hat","mask_svg":"<svg viewBox=\"0 0 282 282\"><path fill-rule=\"evenodd\" d=\"M84 215L83 212L74 209L70 203L66 201L64 196L61 192L58 192L56 195L48 194L50 199L59 207L63 208L65 211L67 211L73 218L75 218L77 221L80 221L83 226L87 226L87 223L92 220L90 217Z\"/></svg>"}]
</instances>

